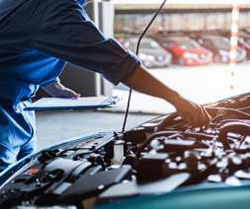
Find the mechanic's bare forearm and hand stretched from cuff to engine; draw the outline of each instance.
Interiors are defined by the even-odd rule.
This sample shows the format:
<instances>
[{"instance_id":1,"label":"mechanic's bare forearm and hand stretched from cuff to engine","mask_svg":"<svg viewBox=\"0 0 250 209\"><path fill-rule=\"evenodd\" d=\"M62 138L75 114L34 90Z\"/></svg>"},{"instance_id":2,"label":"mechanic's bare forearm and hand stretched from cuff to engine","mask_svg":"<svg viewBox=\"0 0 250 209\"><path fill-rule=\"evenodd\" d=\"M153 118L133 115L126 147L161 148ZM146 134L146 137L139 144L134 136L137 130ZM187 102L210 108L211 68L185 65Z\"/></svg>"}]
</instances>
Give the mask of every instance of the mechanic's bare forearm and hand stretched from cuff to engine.
<instances>
[{"instance_id":1,"label":"mechanic's bare forearm and hand stretched from cuff to engine","mask_svg":"<svg viewBox=\"0 0 250 209\"><path fill-rule=\"evenodd\" d=\"M153 77L143 66L138 67L122 82L134 90L162 98L171 103L175 106L180 116L192 126L206 125L210 120L210 116L205 108L183 98L176 91Z\"/></svg>"}]
</instances>

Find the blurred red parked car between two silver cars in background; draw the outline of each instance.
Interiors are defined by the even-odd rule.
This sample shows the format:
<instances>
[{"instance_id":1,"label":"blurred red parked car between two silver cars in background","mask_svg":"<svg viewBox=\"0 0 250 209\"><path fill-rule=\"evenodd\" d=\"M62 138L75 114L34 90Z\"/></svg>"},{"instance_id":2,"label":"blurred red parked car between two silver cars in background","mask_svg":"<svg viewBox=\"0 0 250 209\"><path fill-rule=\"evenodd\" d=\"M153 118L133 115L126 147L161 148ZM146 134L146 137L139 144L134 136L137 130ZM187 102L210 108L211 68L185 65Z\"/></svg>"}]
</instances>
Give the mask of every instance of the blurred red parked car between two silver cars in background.
<instances>
[{"instance_id":1,"label":"blurred red parked car between two silver cars in background","mask_svg":"<svg viewBox=\"0 0 250 209\"><path fill-rule=\"evenodd\" d=\"M204 65L213 60L212 52L186 36L162 36L158 42L173 56L179 65Z\"/></svg>"}]
</instances>

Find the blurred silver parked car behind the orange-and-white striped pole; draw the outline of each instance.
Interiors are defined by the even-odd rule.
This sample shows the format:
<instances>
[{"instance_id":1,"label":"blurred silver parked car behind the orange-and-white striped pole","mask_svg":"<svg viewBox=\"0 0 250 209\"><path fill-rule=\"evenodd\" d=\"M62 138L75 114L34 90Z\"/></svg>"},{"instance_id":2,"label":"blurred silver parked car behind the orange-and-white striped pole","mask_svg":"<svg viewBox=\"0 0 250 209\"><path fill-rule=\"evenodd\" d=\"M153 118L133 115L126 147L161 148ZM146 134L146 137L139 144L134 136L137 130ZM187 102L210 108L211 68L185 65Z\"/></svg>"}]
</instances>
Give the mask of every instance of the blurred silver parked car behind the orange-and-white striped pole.
<instances>
[{"instance_id":1,"label":"blurred silver parked car behind the orange-and-white striped pole","mask_svg":"<svg viewBox=\"0 0 250 209\"><path fill-rule=\"evenodd\" d=\"M214 62L229 63L230 62L230 40L218 35L200 35L197 37L198 42L211 50L214 55ZM236 61L242 62L246 59L246 50L238 47L236 52Z\"/></svg>"}]
</instances>

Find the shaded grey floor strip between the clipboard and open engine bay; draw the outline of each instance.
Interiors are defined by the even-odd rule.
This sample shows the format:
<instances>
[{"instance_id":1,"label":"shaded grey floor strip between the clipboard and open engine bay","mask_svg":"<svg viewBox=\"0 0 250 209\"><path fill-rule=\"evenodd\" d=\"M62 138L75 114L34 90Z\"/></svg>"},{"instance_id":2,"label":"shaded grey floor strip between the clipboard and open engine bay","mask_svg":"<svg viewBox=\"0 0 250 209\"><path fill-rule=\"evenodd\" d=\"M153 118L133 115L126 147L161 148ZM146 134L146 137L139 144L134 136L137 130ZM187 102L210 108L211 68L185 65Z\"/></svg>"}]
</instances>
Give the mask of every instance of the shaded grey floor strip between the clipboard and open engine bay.
<instances>
[{"instance_id":1,"label":"shaded grey floor strip between the clipboard and open engine bay","mask_svg":"<svg viewBox=\"0 0 250 209\"><path fill-rule=\"evenodd\" d=\"M157 115L131 114L127 129ZM43 149L72 137L102 131L121 131L124 114L100 111L37 112L38 149Z\"/></svg>"}]
</instances>

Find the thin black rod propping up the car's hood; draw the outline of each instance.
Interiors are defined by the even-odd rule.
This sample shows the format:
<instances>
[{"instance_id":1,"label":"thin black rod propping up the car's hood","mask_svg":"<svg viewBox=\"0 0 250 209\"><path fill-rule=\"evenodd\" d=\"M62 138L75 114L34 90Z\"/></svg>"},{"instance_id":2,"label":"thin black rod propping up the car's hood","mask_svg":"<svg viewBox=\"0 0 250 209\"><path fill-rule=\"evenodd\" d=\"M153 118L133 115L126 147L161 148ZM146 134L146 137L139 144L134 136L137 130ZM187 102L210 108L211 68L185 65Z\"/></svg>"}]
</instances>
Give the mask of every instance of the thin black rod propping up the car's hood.
<instances>
[{"instance_id":1,"label":"thin black rod propping up the car's hood","mask_svg":"<svg viewBox=\"0 0 250 209\"><path fill-rule=\"evenodd\" d=\"M141 44L141 40L144 37L144 35L147 33L148 29L150 28L150 26L153 24L155 18L158 16L158 14L161 12L162 8L164 7L164 5L166 4L167 0L163 0L162 4L160 5L160 7L156 10L154 16L152 17L152 19L150 20L150 22L148 23L147 27L144 29L144 31L142 32L142 34L140 35L138 42L137 42L137 46L136 46L136 55L139 54L139 49L140 49L140 44ZM128 119L128 114L129 114L129 108L130 108L130 103L131 103L131 96L132 96L132 89L129 90L129 95L128 95L128 102L127 102L127 108L126 108L126 112L125 112L125 116L124 116L124 121L123 121L123 126L122 126L122 133L124 133L125 128L126 128L126 123L127 123L127 119Z\"/></svg>"}]
</instances>

